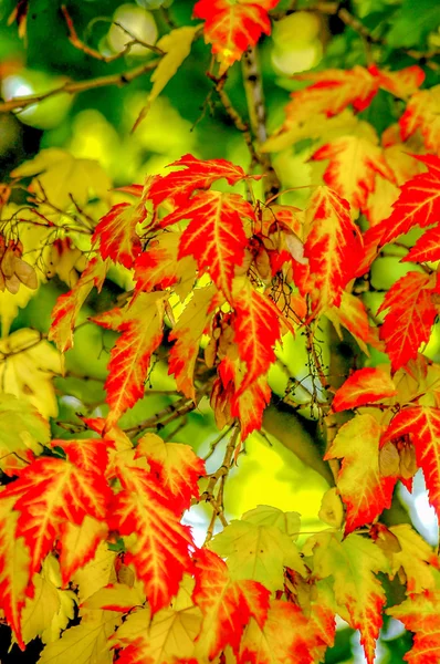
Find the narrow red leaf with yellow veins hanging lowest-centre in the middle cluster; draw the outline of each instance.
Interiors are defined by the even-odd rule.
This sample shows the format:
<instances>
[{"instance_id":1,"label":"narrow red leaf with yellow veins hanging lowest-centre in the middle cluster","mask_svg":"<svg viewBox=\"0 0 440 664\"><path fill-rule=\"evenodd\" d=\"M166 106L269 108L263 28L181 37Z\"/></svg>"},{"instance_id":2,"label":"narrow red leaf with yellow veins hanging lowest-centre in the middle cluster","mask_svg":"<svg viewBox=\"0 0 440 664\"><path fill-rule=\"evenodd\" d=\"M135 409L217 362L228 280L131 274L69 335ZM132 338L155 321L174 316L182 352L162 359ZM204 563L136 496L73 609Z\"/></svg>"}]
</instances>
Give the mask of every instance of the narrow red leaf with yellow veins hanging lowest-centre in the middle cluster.
<instances>
[{"instance_id":1,"label":"narrow red leaf with yellow veins hanging lowest-centre in the middle cluster","mask_svg":"<svg viewBox=\"0 0 440 664\"><path fill-rule=\"evenodd\" d=\"M235 311L235 343L247 373L238 386L235 398L264 375L275 361L274 345L281 336L279 312L264 294L245 279L235 280L233 291Z\"/></svg>"}]
</instances>

